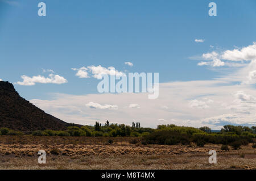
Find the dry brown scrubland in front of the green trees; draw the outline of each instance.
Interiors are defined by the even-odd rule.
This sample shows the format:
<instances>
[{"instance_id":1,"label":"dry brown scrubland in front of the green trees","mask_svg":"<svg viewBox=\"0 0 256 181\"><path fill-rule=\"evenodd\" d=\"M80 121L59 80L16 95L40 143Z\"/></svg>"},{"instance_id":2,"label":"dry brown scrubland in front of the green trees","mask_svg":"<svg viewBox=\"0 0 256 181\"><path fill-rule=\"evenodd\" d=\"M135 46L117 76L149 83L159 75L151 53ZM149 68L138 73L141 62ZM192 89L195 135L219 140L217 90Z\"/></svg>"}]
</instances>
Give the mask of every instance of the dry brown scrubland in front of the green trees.
<instances>
[{"instance_id":1,"label":"dry brown scrubland in front of the green trees","mask_svg":"<svg viewBox=\"0 0 256 181\"><path fill-rule=\"evenodd\" d=\"M113 144L109 144L109 140ZM0 136L0 169L256 169L256 149L221 145L141 145L130 137ZM38 151L46 150L46 164ZM208 151L217 151L217 164Z\"/></svg>"}]
</instances>

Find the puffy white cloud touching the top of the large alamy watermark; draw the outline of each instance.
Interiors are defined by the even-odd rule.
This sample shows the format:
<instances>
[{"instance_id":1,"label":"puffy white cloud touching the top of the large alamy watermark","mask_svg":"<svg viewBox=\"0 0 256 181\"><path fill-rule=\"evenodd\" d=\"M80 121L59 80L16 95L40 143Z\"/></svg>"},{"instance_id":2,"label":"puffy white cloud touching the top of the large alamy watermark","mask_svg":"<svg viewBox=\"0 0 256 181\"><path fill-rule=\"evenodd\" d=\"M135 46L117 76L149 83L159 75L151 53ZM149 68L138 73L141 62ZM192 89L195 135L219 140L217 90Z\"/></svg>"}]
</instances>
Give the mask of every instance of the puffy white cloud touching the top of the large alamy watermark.
<instances>
[{"instance_id":1,"label":"puffy white cloud touching the top of the large alamy watermark","mask_svg":"<svg viewBox=\"0 0 256 181\"><path fill-rule=\"evenodd\" d=\"M77 71L76 76L79 78L89 78L90 77L89 74L92 74L92 77L97 79L102 79L102 75L104 74L107 74L107 75L115 74L115 76L117 77L126 75L121 71L115 70L115 68L113 68L112 66L110 66L109 68L104 68L101 65L99 66L92 65L92 66L88 66L87 68L84 66L79 69L72 68L72 70Z\"/></svg>"}]
</instances>

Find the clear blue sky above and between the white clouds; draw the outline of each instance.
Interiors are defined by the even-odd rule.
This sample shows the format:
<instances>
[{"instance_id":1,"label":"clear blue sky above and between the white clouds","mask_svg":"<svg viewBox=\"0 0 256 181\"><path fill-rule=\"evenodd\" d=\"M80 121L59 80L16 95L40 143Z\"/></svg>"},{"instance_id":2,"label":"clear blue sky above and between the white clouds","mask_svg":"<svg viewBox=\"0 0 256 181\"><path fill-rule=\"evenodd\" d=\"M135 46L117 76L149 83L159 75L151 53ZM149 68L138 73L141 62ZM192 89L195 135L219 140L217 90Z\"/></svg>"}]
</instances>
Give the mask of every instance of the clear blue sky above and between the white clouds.
<instances>
[{"instance_id":1,"label":"clear blue sky above and between the white clouds","mask_svg":"<svg viewBox=\"0 0 256 181\"><path fill-rule=\"evenodd\" d=\"M45 17L38 16L39 2L47 5ZM210 2L217 4L217 16L208 15ZM68 82L63 84L15 84L19 94L28 100L53 100L56 93L98 94L98 79L79 78L71 69L82 66L158 72L160 83L223 78L237 68L197 64L203 53L253 45L256 41L255 7L254 0L0 0L0 78L12 83L22 82L22 75L48 77L49 72L43 72L43 69L51 69L55 75L67 79ZM195 39L204 42L196 43ZM133 66L125 65L127 61ZM229 83L234 85L232 82ZM39 103L37 106L51 110ZM48 112L59 116L56 112ZM194 116L191 115L191 119ZM94 119L100 118L94 116ZM185 120L188 119L185 116Z\"/></svg>"}]
</instances>

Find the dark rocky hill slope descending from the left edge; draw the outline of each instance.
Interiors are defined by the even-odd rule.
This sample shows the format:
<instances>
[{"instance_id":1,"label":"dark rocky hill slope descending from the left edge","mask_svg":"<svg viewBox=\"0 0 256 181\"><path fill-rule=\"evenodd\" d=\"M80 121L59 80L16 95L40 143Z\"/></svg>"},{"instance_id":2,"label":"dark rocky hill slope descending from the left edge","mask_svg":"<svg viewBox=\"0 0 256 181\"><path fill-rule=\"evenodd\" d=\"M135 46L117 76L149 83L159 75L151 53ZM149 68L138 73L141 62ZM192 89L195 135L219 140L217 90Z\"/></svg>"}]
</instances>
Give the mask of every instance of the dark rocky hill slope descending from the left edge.
<instances>
[{"instance_id":1,"label":"dark rocky hill slope descending from the left edge","mask_svg":"<svg viewBox=\"0 0 256 181\"><path fill-rule=\"evenodd\" d=\"M11 83L0 81L0 127L35 131L63 130L67 125L20 97Z\"/></svg>"}]
</instances>

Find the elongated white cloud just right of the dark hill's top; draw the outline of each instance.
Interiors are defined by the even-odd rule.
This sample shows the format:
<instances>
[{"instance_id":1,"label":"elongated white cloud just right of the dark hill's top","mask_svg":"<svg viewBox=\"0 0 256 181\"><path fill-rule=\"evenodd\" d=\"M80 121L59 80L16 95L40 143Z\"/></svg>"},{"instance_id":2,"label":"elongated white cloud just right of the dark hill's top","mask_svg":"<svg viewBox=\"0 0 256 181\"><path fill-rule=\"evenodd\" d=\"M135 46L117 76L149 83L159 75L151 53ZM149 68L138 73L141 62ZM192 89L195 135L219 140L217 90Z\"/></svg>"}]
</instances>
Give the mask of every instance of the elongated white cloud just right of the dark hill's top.
<instances>
[{"instance_id":1,"label":"elongated white cloud just right of the dark hill's top","mask_svg":"<svg viewBox=\"0 0 256 181\"><path fill-rule=\"evenodd\" d=\"M18 85L22 86L34 86L36 83L55 83L62 84L67 83L67 79L61 77L60 75L49 74L49 77L44 77L42 75L28 77L27 75L22 75L22 82L16 82Z\"/></svg>"}]
</instances>

